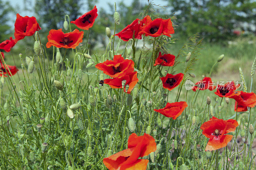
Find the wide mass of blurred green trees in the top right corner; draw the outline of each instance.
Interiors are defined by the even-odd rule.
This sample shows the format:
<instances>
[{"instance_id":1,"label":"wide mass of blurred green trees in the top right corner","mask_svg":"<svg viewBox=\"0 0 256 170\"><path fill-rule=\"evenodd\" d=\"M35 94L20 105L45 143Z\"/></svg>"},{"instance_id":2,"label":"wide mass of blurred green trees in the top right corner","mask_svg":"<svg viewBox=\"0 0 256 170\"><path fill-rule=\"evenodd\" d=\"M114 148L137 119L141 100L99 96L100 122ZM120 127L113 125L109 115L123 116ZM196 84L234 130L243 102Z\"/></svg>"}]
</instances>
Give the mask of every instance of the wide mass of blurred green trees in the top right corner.
<instances>
[{"instance_id":1,"label":"wide mass of blurred green trees in the top right corner","mask_svg":"<svg viewBox=\"0 0 256 170\"><path fill-rule=\"evenodd\" d=\"M177 32L199 32L210 41L227 39L236 29L255 29L255 0L166 0L177 16Z\"/></svg>"}]
</instances>

